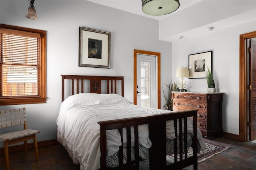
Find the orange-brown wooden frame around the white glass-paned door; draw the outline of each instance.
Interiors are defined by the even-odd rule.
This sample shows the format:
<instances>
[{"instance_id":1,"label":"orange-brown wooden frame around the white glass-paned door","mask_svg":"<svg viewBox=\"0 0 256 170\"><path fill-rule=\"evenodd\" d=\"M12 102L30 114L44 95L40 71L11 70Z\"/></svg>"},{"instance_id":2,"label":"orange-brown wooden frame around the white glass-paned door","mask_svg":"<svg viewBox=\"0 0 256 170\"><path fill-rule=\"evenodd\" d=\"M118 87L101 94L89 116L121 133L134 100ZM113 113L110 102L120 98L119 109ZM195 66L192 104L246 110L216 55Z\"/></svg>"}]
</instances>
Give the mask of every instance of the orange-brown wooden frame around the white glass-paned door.
<instances>
[{"instance_id":1,"label":"orange-brown wooden frame around the white glass-paned door","mask_svg":"<svg viewBox=\"0 0 256 170\"><path fill-rule=\"evenodd\" d=\"M134 57L134 84L133 84L133 103L137 105L137 54L142 55L152 55L156 56L157 58L157 108L161 109L161 63L160 63L160 57L161 53L158 52L152 52L152 51L144 51L144 50L137 50L134 49L133 57Z\"/></svg>"}]
</instances>

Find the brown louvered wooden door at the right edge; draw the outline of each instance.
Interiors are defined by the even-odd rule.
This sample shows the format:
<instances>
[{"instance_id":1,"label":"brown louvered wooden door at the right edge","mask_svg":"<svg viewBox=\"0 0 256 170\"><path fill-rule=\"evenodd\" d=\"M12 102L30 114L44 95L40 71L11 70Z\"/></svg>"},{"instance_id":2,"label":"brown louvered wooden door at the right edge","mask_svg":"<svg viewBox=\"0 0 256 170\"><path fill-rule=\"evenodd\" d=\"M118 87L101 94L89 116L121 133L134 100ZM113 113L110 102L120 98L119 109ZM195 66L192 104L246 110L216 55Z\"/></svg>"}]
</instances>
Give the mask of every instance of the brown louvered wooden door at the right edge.
<instances>
[{"instance_id":1,"label":"brown louvered wooden door at the right edge","mask_svg":"<svg viewBox=\"0 0 256 170\"><path fill-rule=\"evenodd\" d=\"M256 139L256 41L250 39L249 45L249 140Z\"/></svg>"}]
</instances>

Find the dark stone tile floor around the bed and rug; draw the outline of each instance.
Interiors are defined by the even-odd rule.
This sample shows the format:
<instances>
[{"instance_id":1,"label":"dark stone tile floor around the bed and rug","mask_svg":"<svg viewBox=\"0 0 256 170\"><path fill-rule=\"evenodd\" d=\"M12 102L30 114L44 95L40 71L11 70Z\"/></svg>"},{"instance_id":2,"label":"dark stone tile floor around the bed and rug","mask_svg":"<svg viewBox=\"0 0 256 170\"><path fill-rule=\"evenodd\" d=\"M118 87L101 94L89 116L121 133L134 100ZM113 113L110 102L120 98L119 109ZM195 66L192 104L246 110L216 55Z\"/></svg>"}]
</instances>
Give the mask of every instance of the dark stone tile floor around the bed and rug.
<instances>
[{"instance_id":1,"label":"dark stone tile floor around the bed and rug","mask_svg":"<svg viewBox=\"0 0 256 170\"><path fill-rule=\"evenodd\" d=\"M230 149L214 155L212 158L198 164L198 170L256 170L256 143L238 142L225 137L210 139ZM10 154L11 170L80 170L73 164L68 152L62 145L38 148L39 161L35 161L34 150ZM0 169L5 169L4 156L0 156ZM184 170L192 170L189 166Z\"/></svg>"}]
</instances>

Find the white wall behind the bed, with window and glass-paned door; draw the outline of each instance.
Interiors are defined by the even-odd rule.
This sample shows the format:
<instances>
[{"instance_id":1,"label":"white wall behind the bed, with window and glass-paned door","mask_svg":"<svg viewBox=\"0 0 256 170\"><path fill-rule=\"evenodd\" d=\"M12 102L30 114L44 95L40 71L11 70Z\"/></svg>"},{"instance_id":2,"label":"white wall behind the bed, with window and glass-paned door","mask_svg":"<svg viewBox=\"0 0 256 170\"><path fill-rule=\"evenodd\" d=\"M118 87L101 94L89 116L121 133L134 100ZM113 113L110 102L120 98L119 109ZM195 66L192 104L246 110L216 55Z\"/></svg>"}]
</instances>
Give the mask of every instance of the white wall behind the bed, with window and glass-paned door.
<instances>
[{"instance_id":1,"label":"white wall behind the bed, with window and glass-paned door","mask_svg":"<svg viewBox=\"0 0 256 170\"><path fill-rule=\"evenodd\" d=\"M0 21L47 31L47 103L1 110L26 107L28 127L40 130L38 141L56 139L61 74L125 76L124 97L133 102L133 50L140 49L161 53L161 84L170 82L172 43L158 40L158 21L85 0L36 0L39 19L28 20L28 6L28 0L1 0ZM78 66L79 26L111 32L110 69Z\"/></svg>"}]
</instances>

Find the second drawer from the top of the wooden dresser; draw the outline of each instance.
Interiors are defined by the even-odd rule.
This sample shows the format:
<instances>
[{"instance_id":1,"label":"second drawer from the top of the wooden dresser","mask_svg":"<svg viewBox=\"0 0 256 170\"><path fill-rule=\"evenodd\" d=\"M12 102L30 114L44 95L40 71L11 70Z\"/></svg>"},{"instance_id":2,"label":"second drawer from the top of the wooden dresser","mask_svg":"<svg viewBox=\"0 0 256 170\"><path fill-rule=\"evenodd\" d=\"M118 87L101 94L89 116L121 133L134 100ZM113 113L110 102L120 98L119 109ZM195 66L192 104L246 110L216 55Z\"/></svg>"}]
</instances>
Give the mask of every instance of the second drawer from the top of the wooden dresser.
<instances>
[{"instance_id":1,"label":"second drawer from the top of the wooden dresser","mask_svg":"<svg viewBox=\"0 0 256 170\"><path fill-rule=\"evenodd\" d=\"M183 107L185 109L198 109L200 111L207 111L206 104L204 103L196 103L190 101L181 101L181 100L174 100L173 101L174 107Z\"/></svg>"}]
</instances>

